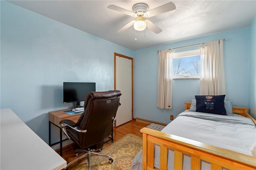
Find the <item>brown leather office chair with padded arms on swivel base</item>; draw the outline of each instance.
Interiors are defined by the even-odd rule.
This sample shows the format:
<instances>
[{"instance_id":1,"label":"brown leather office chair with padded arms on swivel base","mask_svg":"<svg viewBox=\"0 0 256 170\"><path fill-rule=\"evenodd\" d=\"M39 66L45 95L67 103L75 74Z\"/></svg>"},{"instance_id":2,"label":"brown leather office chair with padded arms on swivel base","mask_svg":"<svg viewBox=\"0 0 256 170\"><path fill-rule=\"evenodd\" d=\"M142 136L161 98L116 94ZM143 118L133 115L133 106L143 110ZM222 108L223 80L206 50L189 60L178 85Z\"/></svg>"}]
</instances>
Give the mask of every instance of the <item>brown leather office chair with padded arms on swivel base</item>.
<instances>
[{"instance_id":1,"label":"brown leather office chair with padded arms on swivel base","mask_svg":"<svg viewBox=\"0 0 256 170\"><path fill-rule=\"evenodd\" d=\"M118 90L90 92L84 101L84 113L79 117L77 123L71 120L60 121L60 127L66 136L78 145L79 149L76 152L84 152L72 160L66 168L76 160L87 156L90 170L91 155L105 156L110 164L113 162L111 156L92 151L102 150L104 139L112 133L121 94Z\"/></svg>"}]
</instances>

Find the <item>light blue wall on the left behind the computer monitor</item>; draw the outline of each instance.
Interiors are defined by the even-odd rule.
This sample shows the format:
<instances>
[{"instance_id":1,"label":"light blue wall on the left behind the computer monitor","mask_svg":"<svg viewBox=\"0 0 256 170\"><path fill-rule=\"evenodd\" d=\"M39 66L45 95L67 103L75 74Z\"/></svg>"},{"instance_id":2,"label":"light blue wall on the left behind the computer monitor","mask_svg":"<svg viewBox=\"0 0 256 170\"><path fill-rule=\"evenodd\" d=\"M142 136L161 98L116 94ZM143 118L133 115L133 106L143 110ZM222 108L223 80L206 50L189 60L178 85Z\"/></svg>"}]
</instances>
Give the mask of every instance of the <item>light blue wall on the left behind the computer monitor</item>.
<instances>
[{"instance_id":1,"label":"light blue wall on the left behind the computer monitor","mask_svg":"<svg viewBox=\"0 0 256 170\"><path fill-rule=\"evenodd\" d=\"M48 112L63 104L62 83L114 89L114 52L133 51L1 1L1 109L11 108L48 143ZM58 128L53 127L56 142ZM56 134L54 134L56 133Z\"/></svg>"}]
</instances>

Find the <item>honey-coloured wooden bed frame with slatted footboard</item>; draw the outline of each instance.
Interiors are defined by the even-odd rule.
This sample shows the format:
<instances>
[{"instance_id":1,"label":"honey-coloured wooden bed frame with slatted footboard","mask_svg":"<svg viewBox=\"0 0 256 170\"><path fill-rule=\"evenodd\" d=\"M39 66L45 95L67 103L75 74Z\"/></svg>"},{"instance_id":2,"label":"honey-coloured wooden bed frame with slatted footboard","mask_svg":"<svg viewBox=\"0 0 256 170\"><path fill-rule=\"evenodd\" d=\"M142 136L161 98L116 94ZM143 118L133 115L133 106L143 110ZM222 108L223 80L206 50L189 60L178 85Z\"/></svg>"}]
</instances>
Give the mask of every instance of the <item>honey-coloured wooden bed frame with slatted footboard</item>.
<instances>
[{"instance_id":1,"label":"honey-coloured wooden bed frame with slatted footboard","mask_svg":"<svg viewBox=\"0 0 256 170\"><path fill-rule=\"evenodd\" d=\"M185 110L190 109L191 103L185 103ZM248 108L233 107L233 113L249 117ZM150 128L140 130L143 137L142 167L143 170L154 168L154 144L160 145L160 170L167 170L168 148L174 150L174 170L182 170L183 156L191 156L191 170L201 170L201 160L211 163L211 170L255 170L256 157L204 144L180 136L167 134Z\"/></svg>"}]
</instances>

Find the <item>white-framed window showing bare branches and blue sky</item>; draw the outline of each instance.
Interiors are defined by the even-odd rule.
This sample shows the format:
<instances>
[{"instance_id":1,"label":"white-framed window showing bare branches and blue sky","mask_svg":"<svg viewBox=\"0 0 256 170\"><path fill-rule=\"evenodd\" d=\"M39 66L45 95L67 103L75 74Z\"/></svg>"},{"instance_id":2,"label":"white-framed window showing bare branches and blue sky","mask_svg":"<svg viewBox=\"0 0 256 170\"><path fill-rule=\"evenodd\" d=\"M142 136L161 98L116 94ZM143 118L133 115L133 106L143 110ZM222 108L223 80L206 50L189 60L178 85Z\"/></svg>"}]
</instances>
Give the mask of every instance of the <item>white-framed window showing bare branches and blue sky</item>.
<instances>
[{"instance_id":1,"label":"white-framed window showing bare branches and blue sky","mask_svg":"<svg viewBox=\"0 0 256 170\"><path fill-rule=\"evenodd\" d=\"M200 78L200 49L173 53L172 58L173 79Z\"/></svg>"}]
</instances>

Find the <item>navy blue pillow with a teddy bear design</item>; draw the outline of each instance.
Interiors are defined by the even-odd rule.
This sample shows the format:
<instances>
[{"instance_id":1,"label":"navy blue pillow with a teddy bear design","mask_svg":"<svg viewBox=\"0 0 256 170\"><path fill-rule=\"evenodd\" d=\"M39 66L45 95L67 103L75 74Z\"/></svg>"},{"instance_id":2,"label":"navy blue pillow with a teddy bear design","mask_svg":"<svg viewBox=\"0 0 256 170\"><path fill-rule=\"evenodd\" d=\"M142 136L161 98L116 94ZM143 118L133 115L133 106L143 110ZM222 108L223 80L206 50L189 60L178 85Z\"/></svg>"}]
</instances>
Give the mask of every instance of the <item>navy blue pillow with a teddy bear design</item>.
<instances>
[{"instance_id":1,"label":"navy blue pillow with a teddy bear design","mask_svg":"<svg viewBox=\"0 0 256 170\"><path fill-rule=\"evenodd\" d=\"M217 115L227 115L224 105L225 95L196 97L196 112L212 113Z\"/></svg>"}]
</instances>

